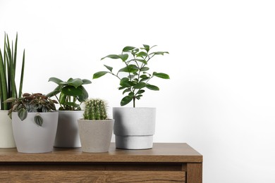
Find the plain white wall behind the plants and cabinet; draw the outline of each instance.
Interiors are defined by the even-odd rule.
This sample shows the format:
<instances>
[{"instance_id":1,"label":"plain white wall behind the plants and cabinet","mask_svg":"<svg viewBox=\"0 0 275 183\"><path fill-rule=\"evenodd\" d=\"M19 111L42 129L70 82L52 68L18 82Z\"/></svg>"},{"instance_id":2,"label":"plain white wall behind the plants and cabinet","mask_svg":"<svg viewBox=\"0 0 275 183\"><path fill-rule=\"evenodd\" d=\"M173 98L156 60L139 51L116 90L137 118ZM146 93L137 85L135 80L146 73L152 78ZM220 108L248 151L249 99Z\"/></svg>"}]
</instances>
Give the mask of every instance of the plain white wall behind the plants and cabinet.
<instances>
[{"instance_id":1,"label":"plain white wall behind the plants and cabinet","mask_svg":"<svg viewBox=\"0 0 275 183\"><path fill-rule=\"evenodd\" d=\"M92 79L123 46L157 44L159 92L137 106L157 107L155 142L186 142L204 156L203 182L275 182L274 1L0 0L4 32L26 50L24 92L47 94L49 77ZM19 71L19 68L18 68ZM19 72L18 72L19 73ZM86 86L119 106L111 75Z\"/></svg>"}]
</instances>

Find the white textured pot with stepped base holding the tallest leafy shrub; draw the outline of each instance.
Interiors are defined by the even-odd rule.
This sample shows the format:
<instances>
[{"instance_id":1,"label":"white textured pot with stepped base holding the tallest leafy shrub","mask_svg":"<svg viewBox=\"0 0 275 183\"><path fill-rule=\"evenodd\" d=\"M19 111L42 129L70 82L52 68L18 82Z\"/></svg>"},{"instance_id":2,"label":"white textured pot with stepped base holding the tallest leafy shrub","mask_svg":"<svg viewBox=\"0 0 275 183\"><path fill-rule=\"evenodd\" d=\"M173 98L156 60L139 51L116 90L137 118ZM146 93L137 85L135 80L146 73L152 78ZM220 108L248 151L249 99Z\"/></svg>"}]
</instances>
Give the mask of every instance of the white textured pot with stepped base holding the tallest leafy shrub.
<instances>
[{"instance_id":1,"label":"white textured pot with stepped base holding the tallest leafy shrub","mask_svg":"<svg viewBox=\"0 0 275 183\"><path fill-rule=\"evenodd\" d=\"M152 149L156 108L113 108L118 149Z\"/></svg>"}]
</instances>

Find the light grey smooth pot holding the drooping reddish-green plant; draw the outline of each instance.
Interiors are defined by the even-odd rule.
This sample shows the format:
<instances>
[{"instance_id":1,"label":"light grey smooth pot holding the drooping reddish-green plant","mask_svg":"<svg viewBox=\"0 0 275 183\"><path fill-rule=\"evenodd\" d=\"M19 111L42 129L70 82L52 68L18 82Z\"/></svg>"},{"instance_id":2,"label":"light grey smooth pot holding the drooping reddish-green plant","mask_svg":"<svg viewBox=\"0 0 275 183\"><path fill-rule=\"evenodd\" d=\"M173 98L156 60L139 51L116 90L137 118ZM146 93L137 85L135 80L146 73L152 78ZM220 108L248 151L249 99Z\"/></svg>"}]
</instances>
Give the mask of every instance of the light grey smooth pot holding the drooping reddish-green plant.
<instances>
[{"instance_id":1,"label":"light grey smooth pot holding the drooping reddish-green plant","mask_svg":"<svg viewBox=\"0 0 275 183\"><path fill-rule=\"evenodd\" d=\"M54 147L59 113L40 113L42 127L35 123L35 115L27 113L27 118L21 121L17 112L12 113L13 135L20 153L47 153Z\"/></svg>"}]
</instances>

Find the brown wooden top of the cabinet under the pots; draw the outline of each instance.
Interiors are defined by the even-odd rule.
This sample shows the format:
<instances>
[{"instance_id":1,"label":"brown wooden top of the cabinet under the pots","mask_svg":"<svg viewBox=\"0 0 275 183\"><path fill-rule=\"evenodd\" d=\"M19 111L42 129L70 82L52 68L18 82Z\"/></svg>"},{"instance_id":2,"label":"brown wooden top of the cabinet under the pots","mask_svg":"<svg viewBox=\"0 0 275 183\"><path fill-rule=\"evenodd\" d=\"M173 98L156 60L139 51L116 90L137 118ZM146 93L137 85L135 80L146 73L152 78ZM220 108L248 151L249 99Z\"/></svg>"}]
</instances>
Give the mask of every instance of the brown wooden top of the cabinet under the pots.
<instances>
[{"instance_id":1,"label":"brown wooden top of the cabinet under the pots","mask_svg":"<svg viewBox=\"0 0 275 183\"><path fill-rule=\"evenodd\" d=\"M202 155L185 143L155 143L153 149L116 149L111 143L108 153L83 153L78 149L57 149L51 153L18 153L0 149L0 163L12 162L108 162L108 163L202 163Z\"/></svg>"}]
</instances>

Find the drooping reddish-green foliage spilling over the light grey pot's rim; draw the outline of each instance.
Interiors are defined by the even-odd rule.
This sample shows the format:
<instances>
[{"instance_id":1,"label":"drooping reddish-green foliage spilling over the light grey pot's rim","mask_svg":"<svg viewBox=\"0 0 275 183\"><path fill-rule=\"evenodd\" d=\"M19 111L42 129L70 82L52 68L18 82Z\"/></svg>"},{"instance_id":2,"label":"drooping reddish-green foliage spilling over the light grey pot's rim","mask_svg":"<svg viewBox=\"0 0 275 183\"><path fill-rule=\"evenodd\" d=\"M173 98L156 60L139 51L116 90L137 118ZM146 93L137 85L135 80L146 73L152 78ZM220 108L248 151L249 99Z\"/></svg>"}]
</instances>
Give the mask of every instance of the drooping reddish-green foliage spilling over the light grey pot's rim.
<instances>
[{"instance_id":1,"label":"drooping reddish-green foliage spilling over the light grey pot's rim","mask_svg":"<svg viewBox=\"0 0 275 183\"><path fill-rule=\"evenodd\" d=\"M18 117L20 120L25 120L27 118L27 113L37 113L35 115L35 123L40 127L43 124L43 118L39 113L48 113L51 111L56 111L56 106L54 103L58 103L55 100L49 99L49 97L43 94L23 94L23 97L18 99L9 98L4 103L12 103L12 108L8 111L8 115L12 112L18 112Z\"/></svg>"}]
</instances>

